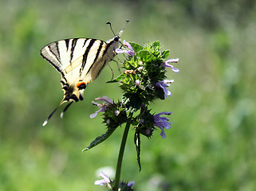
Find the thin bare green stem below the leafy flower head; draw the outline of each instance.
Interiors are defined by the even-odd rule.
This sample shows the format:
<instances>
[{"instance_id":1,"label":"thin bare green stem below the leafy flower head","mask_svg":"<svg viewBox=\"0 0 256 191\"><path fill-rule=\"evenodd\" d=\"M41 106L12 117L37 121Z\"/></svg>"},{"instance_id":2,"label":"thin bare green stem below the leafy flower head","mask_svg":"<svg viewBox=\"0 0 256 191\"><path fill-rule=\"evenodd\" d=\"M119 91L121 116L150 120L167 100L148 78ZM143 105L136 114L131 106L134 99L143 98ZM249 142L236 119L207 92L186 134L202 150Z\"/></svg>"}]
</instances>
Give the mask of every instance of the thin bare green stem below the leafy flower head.
<instances>
[{"instance_id":1,"label":"thin bare green stem below the leafy flower head","mask_svg":"<svg viewBox=\"0 0 256 191\"><path fill-rule=\"evenodd\" d=\"M118 155L118 160L116 164L116 177L115 177L115 186L114 190L118 190L119 188L119 183L120 183L120 175L121 175L121 168L122 168L122 162L123 162L123 157L124 157L124 148L128 136L128 131L131 125L131 118L132 118L132 112L130 113L130 116L128 117L128 122L126 123L125 129L124 129L124 134L119 150L119 155Z\"/></svg>"}]
</instances>

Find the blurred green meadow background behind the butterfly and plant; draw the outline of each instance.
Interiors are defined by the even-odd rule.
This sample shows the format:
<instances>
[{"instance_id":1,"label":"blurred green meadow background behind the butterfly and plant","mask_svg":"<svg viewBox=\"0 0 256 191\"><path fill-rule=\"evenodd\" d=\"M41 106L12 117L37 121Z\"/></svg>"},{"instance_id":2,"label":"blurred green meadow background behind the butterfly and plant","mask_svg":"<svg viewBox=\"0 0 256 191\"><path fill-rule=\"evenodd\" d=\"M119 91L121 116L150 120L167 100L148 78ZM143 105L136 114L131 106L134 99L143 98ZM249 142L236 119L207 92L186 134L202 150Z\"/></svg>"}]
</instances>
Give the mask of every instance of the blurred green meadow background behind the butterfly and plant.
<instances>
[{"instance_id":1,"label":"blurred green meadow background behind the butterfly and plant","mask_svg":"<svg viewBox=\"0 0 256 191\"><path fill-rule=\"evenodd\" d=\"M22 1L0 0L0 190L104 190L96 170L115 168L118 129L93 150L81 150L105 127L91 101L119 99L117 84L105 84L104 68L60 119L41 124L61 101L60 74L40 56L51 41L112 37L171 49L178 74L167 72L171 98L152 104L173 111L167 138L142 138L139 173L133 132L121 178L137 190L242 190L256 188L256 6L241 1ZM116 70L113 62L112 68ZM115 72L118 75L118 72Z\"/></svg>"}]
</instances>

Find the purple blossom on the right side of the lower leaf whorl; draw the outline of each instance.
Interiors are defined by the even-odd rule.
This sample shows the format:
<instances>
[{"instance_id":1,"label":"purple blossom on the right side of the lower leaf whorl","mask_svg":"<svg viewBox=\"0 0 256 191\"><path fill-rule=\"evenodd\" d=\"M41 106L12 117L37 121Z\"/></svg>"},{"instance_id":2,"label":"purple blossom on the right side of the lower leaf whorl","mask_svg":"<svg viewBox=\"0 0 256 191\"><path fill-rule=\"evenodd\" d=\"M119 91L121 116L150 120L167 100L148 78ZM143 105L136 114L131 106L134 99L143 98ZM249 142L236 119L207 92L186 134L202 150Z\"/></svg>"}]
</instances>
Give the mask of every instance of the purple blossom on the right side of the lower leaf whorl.
<instances>
[{"instance_id":1,"label":"purple blossom on the right side of the lower leaf whorl","mask_svg":"<svg viewBox=\"0 0 256 191\"><path fill-rule=\"evenodd\" d=\"M171 123L168 122L169 119L165 117L160 117L160 115L171 115L172 112L162 112L154 115L154 126L159 127L161 130L161 137L166 138L166 134L164 133L164 129L170 129Z\"/></svg>"}]
</instances>

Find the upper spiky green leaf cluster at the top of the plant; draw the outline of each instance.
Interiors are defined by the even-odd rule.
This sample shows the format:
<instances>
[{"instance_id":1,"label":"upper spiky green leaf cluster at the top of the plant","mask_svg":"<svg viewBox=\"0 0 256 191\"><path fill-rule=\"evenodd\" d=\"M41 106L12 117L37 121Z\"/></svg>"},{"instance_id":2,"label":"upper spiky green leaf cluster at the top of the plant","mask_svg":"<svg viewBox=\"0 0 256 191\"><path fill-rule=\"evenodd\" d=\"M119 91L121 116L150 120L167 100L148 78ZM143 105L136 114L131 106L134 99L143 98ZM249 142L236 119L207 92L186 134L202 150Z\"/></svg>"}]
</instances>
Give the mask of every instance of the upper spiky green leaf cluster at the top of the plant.
<instances>
[{"instance_id":1,"label":"upper spiky green leaf cluster at the top of the plant","mask_svg":"<svg viewBox=\"0 0 256 191\"><path fill-rule=\"evenodd\" d=\"M123 101L131 110L140 109L142 103L151 103L154 99L164 99L163 90L156 88L156 82L164 80L165 68L161 66L169 51L160 51L160 42L138 45L131 42L134 57L124 61L124 73L110 82L119 82L124 91ZM139 84L136 84L138 80Z\"/></svg>"}]
</instances>

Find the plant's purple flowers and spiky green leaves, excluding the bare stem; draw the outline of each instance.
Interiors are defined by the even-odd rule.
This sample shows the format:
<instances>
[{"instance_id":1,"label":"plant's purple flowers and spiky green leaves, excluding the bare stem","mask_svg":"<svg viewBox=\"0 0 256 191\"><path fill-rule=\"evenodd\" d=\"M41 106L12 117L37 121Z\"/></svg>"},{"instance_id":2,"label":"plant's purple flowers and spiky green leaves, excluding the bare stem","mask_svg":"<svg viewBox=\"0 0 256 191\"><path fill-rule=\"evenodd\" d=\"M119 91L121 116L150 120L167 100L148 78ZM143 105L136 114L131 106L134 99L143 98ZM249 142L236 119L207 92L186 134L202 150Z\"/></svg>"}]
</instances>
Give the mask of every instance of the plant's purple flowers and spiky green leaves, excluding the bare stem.
<instances>
[{"instance_id":1,"label":"plant's purple flowers and spiky green leaves, excluding the bare stem","mask_svg":"<svg viewBox=\"0 0 256 191\"><path fill-rule=\"evenodd\" d=\"M169 119L163 117L163 115L171 115L171 112L154 114L148 107L156 99L167 99L171 96L168 88L174 80L167 80L165 73L167 68L171 68L173 72L179 72L179 69L172 65L176 64L179 59L166 60L169 51L161 51L159 41L144 46L124 41L122 47L116 49L116 53L125 54L124 72L108 83L118 82L124 94L122 99L117 102L107 96L96 99L96 101L103 103L93 102L93 105L99 107L100 110L90 115L90 117L94 118L99 112L102 112L108 130L105 134L97 137L85 150L103 142L121 124L126 123L125 130L132 125L135 132L134 143L136 145L137 162L141 170L140 135L151 138L154 131L160 129L160 136L166 138L165 130L171 128ZM101 174L100 177L103 177L103 180L96 181L97 185L106 185L108 189L113 188L113 181L104 174ZM119 189L126 188L120 190L132 190L132 186L126 183L117 186L119 186Z\"/></svg>"}]
</instances>

